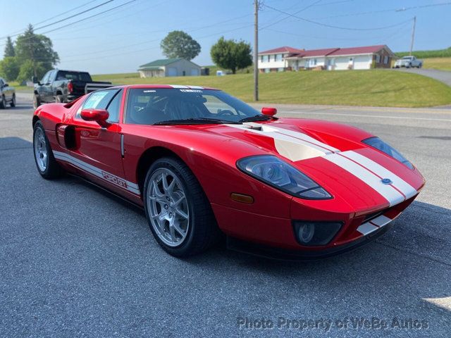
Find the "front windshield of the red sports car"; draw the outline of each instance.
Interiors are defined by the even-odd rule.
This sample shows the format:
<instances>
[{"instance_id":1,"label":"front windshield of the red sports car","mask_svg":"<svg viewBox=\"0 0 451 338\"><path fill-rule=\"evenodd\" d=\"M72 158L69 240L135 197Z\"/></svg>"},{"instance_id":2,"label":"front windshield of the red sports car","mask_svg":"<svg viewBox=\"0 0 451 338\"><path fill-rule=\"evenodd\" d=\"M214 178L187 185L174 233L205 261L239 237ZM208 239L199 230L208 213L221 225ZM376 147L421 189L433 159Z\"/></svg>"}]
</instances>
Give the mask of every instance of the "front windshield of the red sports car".
<instances>
[{"instance_id":1,"label":"front windshield of the red sports car","mask_svg":"<svg viewBox=\"0 0 451 338\"><path fill-rule=\"evenodd\" d=\"M233 96L214 89L140 88L128 91L125 123L237 123L267 118Z\"/></svg>"}]
</instances>

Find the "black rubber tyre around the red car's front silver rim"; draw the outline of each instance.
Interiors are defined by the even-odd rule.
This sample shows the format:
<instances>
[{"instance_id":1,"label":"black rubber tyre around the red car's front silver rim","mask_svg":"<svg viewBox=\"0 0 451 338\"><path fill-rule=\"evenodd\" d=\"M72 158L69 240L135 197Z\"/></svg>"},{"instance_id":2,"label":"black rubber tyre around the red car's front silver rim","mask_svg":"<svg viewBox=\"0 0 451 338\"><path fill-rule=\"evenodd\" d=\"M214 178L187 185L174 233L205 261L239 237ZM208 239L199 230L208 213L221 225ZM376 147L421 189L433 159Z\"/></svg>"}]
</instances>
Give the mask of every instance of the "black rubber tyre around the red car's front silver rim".
<instances>
[{"instance_id":1,"label":"black rubber tyre around the red car's front silver rim","mask_svg":"<svg viewBox=\"0 0 451 338\"><path fill-rule=\"evenodd\" d=\"M171 170L172 173L177 175L187 199L190 215L188 221L189 227L187 228L185 239L178 246L169 246L159 238L150 217L148 206L150 178L156 170L161 168ZM220 238L221 231L216 225L216 219L214 218L213 211L202 187L187 165L178 158L160 158L147 171L144 181L144 211L156 242L172 256L187 257L201 253L209 249Z\"/></svg>"}]
</instances>

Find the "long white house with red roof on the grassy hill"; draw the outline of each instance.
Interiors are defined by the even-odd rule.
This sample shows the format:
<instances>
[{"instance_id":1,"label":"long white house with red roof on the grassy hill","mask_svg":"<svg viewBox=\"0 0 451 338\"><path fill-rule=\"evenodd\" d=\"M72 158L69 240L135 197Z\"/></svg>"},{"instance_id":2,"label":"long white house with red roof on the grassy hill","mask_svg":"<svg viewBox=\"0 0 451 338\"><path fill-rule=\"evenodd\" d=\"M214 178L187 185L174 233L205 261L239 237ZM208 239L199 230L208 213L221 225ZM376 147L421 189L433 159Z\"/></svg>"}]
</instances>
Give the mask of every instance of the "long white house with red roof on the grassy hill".
<instances>
[{"instance_id":1,"label":"long white house with red roof on the grassy hill","mask_svg":"<svg viewBox=\"0 0 451 338\"><path fill-rule=\"evenodd\" d=\"M271 62L271 55L273 54L269 52L280 51L280 49L289 49L292 53L285 54L282 60L279 60L279 63L274 62L276 58ZM385 45L311 50L298 49L297 53L291 47L281 47L280 49L271 49L271 51L259 53L259 70L261 73L312 68L327 70L390 68L392 59L396 57L393 51ZM270 62L262 63L262 58L265 58L265 61L267 61L268 55L270 56Z\"/></svg>"}]
</instances>

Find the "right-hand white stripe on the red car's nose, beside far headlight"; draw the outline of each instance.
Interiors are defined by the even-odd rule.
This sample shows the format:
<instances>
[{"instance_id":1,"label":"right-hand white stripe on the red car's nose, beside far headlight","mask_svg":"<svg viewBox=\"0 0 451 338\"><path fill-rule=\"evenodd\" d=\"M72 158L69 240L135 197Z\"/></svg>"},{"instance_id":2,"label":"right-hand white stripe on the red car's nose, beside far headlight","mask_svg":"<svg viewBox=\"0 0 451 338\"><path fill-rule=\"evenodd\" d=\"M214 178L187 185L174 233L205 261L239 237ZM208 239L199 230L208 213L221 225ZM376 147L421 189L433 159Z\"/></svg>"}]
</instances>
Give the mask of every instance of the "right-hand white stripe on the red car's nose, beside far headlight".
<instances>
[{"instance_id":1,"label":"right-hand white stripe on the red car's nose, beside far headlight","mask_svg":"<svg viewBox=\"0 0 451 338\"><path fill-rule=\"evenodd\" d=\"M409 199L410 197L416 195L416 189L412 187L412 185L402 180L401 177L395 175L395 173L392 173L390 170L384 168L379 163L376 163L366 156L356 153L355 151L343 151L340 154L342 154L342 156L351 158L353 161L356 161L357 163L363 165L365 168L371 170L373 173L376 173L376 175L392 180L393 186L399 189L400 192L402 192L402 194L406 196L406 199Z\"/></svg>"}]
</instances>

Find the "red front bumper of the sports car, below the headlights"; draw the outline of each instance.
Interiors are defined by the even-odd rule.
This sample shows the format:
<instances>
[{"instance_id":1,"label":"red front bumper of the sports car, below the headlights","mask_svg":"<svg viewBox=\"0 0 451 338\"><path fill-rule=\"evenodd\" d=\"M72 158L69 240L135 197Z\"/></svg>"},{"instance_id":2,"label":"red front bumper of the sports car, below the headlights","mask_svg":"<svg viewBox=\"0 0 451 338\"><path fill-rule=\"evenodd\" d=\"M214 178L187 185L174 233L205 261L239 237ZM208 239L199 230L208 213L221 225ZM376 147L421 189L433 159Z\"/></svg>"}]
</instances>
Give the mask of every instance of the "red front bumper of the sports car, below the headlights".
<instances>
[{"instance_id":1,"label":"red front bumper of the sports car, below the headlights","mask_svg":"<svg viewBox=\"0 0 451 338\"><path fill-rule=\"evenodd\" d=\"M249 213L215 204L212 204L212 207L219 227L228 235L230 249L292 260L299 257L305 259L332 256L371 242L389 229L390 223L415 197L389 208L359 213L299 209L299 213L292 212L292 219ZM301 215L308 217L301 219ZM306 246L297 241L293 220L312 223L336 221L343 225L328 244Z\"/></svg>"}]
</instances>

